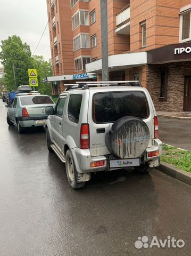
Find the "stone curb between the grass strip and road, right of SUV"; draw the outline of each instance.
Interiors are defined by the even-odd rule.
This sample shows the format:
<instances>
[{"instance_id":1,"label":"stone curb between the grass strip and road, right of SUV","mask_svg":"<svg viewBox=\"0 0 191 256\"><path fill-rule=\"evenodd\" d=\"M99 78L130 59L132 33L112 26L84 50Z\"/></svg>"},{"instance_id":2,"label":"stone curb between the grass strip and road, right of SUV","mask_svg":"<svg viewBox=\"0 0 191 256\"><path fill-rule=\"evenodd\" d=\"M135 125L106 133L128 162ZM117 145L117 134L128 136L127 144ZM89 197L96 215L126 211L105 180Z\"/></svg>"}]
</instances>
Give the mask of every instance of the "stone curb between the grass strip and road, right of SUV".
<instances>
[{"instance_id":1,"label":"stone curb between the grass strip and road, right of SUV","mask_svg":"<svg viewBox=\"0 0 191 256\"><path fill-rule=\"evenodd\" d=\"M156 168L157 170L164 172L175 178L180 180L187 185L191 186L191 173L178 169L177 167L173 166L172 164L168 164L161 161L161 165Z\"/></svg>"}]
</instances>

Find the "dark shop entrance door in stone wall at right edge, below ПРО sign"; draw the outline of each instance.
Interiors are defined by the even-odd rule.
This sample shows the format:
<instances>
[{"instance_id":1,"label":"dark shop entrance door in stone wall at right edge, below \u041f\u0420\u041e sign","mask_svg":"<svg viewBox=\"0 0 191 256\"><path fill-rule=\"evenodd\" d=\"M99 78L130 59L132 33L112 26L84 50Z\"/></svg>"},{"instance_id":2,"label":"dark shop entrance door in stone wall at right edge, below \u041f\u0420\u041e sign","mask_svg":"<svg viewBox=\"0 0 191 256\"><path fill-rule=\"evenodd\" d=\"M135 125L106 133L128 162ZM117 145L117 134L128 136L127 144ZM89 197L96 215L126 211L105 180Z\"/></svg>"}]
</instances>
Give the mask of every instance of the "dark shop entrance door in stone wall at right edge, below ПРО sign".
<instances>
[{"instance_id":1,"label":"dark shop entrance door in stone wall at right edge, below \u041f\u0420\u041e sign","mask_svg":"<svg viewBox=\"0 0 191 256\"><path fill-rule=\"evenodd\" d=\"M191 111L191 76L185 76L183 111Z\"/></svg>"}]
</instances>

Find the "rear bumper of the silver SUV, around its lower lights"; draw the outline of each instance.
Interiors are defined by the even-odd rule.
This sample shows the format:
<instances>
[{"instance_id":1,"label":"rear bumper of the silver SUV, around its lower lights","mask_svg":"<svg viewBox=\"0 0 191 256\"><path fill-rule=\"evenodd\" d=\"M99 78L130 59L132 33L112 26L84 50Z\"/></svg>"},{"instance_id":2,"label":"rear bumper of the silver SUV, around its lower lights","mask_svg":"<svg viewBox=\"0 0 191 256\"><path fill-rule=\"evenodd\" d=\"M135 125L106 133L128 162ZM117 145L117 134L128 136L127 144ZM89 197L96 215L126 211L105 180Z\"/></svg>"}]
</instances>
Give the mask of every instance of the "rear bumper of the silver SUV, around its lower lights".
<instances>
[{"instance_id":1,"label":"rear bumper of the silver SUV, around its lower lights","mask_svg":"<svg viewBox=\"0 0 191 256\"><path fill-rule=\"evenodd\" d=\"M150 151L159 151L159 155L155 157L147 157L148 152ZM107 156L91 156L89 149L80 149L80 148L73 148L71 149L71 153L74 159L74 163L76 165L77 172L79 173L88 173L88 172L99 172L99 171L110 171L115 169L110 169L109 161L110 159L117 159L114 155L107 155ZM162 154L162 142L159 139L154 140L153 147L147 148L144 154L141 157L141 164L148 163L151 167L156 167L160 165L160 156ZM105 165L101 167L90 167L90 163L96 161L105 161Z\"/></svg>"}]
</instances>

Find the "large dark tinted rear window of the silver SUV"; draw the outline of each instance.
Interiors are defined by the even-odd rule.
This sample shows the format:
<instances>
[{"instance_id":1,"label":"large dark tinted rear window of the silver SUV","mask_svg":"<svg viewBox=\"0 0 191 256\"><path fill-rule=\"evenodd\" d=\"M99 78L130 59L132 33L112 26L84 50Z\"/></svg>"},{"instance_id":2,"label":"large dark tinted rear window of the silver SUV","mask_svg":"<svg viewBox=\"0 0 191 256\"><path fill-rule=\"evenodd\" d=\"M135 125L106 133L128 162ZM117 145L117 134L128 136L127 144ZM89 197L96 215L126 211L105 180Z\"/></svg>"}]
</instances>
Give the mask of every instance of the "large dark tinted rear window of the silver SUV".
<instances>
[{"instance_id":1,"label":"large dark tinted rear window of the silver SUV","mask_svg":"<svg viewBox=\"0 0 191 256\"><path fill-rule=\"evenodd\" d=\"M110 92L94 95L95 123L112 123L123 116L149 116L148 103L143 92Z\"/></svg>"}]
</instances>

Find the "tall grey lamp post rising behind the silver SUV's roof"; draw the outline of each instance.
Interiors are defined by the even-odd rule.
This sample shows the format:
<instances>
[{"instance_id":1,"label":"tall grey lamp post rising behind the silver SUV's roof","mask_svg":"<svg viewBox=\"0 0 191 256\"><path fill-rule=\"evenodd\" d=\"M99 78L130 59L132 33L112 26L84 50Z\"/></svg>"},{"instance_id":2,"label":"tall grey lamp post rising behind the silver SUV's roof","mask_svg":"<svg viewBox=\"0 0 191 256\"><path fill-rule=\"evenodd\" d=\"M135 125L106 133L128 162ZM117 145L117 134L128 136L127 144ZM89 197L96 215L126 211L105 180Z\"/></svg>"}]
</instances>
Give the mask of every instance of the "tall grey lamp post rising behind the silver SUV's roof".
<instances>
[{"instance_id":1,"label":"tall grey lamp post rising behind the silver SUV's roof","mask_svg":"<svg viewBox=\"0 0 191 256\"><path fill-rule=\"evenodd\" d=\"M100 0L100 9L101 9L101 35L102 35L102 81L109 81L107 0Z\"/></svg>"}]
</instances>

